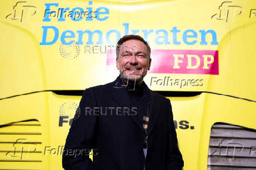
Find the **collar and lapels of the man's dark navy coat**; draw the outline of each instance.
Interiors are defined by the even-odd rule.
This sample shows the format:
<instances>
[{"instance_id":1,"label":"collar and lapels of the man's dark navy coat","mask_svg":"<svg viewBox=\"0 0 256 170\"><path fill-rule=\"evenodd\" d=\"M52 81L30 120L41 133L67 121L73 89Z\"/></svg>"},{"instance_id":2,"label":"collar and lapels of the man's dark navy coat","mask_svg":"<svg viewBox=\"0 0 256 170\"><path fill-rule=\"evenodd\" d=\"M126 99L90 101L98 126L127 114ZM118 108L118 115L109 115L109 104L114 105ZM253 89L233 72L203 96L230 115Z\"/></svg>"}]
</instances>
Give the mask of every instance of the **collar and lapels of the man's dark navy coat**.
<instances>
[{"instance_id":1,"label":"collar and lapels of the man's dark navy coat","mask_svg":"<svg viewBox=\"0 0 256 170\"><path fill-rule=\"evenodd\" d=\"M119 77L117 77L116 80L114 80L112 83L110 83L110 95L112 96L113 100L120 104L120 106L124 107L131 107L130 101L127 97L123 97L121 94L125 93L126 90L132 90L132 89L126 89L125 84L121 84L122 80ZM146 84L145 84L146 85ZM132 117L133 121L137 124L137 126L140 128L140 130L145 135L150 135L151 132L154 130L154 126L156 125L158 119L159 119L159 101L157 101L157 96L154 91L151 91L149 87L146 85L146 90L148 91L149 98L150 98L150 118L149 118L149 125L148 125L148 134L144 131L144 128L142 127L142 124L140 123L139 117L137 116L130 116ZM121 93L121 94L120 94Z\"/></svg>"}]
</instances>

